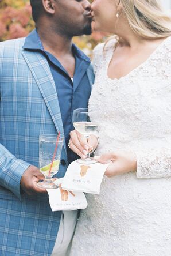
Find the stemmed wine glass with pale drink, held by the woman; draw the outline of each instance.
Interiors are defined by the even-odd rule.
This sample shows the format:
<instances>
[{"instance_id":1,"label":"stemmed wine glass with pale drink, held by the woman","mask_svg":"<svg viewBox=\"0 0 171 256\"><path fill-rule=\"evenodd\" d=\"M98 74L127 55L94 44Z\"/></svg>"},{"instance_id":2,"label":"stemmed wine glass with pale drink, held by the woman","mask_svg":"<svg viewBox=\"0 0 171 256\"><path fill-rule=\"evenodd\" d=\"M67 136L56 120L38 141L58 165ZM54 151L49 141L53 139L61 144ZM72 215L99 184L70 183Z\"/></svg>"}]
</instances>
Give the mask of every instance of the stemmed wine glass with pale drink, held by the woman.
<instances>
[{"instance_id":1,"label":"stemmed wine glass with pale drink, held by the woman","mask_svg":"<svg viewBox=\"0 0 171 256\"><path fill-rule=\"evenodd\" d=\"M96 111L88 111L88 108L77 108L73 111L72 122L75 129L83 134L87 139L91 134L98 137L98 122L91 121L96 118ZM85 159L77 159L77 163L80 164L95 164L96 161L90 157L90 153L88 153Z\"/></svg>"}]
</instances>

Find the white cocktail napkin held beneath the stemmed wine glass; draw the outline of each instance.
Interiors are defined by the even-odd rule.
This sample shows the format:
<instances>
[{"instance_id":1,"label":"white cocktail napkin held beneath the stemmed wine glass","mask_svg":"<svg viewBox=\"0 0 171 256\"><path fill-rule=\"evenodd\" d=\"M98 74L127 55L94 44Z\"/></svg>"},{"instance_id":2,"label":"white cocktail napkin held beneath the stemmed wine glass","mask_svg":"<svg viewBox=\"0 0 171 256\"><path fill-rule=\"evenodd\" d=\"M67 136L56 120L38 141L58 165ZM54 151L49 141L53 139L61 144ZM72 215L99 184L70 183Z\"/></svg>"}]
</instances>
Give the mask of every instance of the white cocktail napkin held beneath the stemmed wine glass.
<instances>
[{"instance_id":1,"label":"white cocktail napkin held beneath the stemmed wine glass","mask_svg":"<svg viewBox=\"0 0 171 256\"><path fill-rule=\"evenodd\" d=\"M72 162L68 168L62 184L63 189L90 194L100 194L104 172L110 163L107 164L79 164Z\"/></svg>"}]
</instances>

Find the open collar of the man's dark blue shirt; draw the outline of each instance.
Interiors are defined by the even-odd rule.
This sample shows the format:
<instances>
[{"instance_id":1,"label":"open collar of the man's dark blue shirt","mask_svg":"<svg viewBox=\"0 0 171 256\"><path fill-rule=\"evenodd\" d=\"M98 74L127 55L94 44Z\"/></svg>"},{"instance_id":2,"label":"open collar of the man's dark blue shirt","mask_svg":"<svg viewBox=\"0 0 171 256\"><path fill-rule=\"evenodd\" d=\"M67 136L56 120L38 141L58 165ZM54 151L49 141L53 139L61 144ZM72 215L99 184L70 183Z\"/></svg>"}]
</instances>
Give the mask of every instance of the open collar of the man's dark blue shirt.
<instances>
[{"instance_id":1,"label":"open collar of the man's dark blue shirt","mask_svg":"<svg viewBox=\"0 0 171 256\"><path fill-rule=\"evenodd\" d=\"M45 52L36 29L34 29L26 37L23 48L26 50L41 50ZM87 55L85 55L84 52L81 51L75 44L72 44L72 50L73 54L77 55L77 57L83 59L84 61L90 62L90 58L88 58Z\"/></svg>"}]
</instances>

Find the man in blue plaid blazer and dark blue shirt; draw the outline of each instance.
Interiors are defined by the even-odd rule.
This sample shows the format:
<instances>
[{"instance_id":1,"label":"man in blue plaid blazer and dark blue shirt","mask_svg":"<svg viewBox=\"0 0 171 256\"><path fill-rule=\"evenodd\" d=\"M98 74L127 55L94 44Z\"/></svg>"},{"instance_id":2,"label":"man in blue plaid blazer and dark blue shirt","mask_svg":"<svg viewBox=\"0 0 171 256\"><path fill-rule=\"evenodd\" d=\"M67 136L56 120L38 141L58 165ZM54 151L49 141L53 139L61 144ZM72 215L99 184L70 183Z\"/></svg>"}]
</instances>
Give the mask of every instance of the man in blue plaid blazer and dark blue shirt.
<instances>
[{"instance_id":1,"label":"man in blue plaid blazer and dark blue shirt","mask_svg":"<svg viewBox=\"0 0 171 256\"><path fill-rule=\"evenodd\" d=\"M91 33L91 6L87 0L30 2L36 29L0 43L0 251L59 255L66 230L61 212L52 212L46 190L36 186L44 179L38 137L59 131L65 136L58 174L63 177L76 159L66 146L72 112L87 107L94 80L90 59L72 43L73 36ZM67 241L76 216L69 220Z\"/></svg>"}]
</instances>

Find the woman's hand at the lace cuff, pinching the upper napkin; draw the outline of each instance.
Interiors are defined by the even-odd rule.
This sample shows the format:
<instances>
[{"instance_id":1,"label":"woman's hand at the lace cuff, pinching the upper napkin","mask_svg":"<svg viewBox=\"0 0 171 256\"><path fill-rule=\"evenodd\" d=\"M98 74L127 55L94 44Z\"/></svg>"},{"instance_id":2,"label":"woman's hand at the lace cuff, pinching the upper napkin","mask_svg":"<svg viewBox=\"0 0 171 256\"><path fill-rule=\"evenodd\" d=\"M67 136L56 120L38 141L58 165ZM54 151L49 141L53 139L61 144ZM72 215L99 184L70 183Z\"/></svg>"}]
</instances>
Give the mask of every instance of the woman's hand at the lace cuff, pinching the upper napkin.
<instances>
[{"instance_id":1,"label":"woman's hand at the lace cuff, pinching the upper napkin","mask_svg":"<svg viewBox=\"0 0 171 256\"><path fill-rule=\"evenodd\" d=\"M95 159L100 163L111 161L104 173L108 177L137 170L137 156L133 152L118 150L116 152L106 153L100 157L95 157Z\"/></svg>"}]
</instances>

